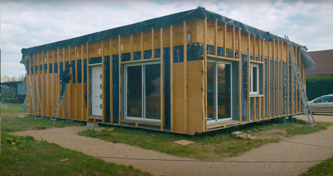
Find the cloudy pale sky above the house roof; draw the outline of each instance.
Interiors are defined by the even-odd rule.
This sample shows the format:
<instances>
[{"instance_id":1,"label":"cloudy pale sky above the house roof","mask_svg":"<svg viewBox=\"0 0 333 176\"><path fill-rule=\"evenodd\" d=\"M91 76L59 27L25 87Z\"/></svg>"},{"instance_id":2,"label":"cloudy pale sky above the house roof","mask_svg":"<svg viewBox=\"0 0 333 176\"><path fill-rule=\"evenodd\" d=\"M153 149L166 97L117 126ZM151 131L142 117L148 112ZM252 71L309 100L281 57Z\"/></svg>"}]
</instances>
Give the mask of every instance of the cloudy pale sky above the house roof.
<instances>
[{"instance_id":1,"label":"cloudy pale sky above the house roof","mask_svg":"<svg viewBox=\"0 0 333 176\"><path fill-rule=\"evenodd\" d=\"M333 49L332 0L1 0L1 75L25 74L22 48L30 48L204 6L305 45Z\"/></svg>"}]
</instances>

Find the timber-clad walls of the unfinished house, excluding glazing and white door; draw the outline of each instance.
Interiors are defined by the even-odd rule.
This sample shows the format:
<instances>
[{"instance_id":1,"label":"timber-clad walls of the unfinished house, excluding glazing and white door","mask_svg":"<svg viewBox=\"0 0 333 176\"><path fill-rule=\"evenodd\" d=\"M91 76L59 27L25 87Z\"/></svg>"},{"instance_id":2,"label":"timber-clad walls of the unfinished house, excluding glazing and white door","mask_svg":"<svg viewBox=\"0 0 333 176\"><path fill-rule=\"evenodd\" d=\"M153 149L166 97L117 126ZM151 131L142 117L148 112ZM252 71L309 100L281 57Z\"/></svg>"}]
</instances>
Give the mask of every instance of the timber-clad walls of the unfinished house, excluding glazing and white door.
<instances>
[{"instance_id":1,"label":"timber-clad walls of the unfinished house, excluding glazing and white door","mask_svg":"<svg viewBox=\"0 0 333 176\"><path fill-rule=\"evenodd\" d=\"M191 39L189 39L189 34ZM189 61L187 58L187 46L190 44L203 44L203 57L200 59ZM207 45L214 47L214 53L207 53ZM183 58L184 62L174 62L173 58L174 46L184 46ZM126 121L123 119L123 112L121 105L123 104L123 97L121 97L121 69L119 69L119 109L113 109L113 103L109 103L107 107L107 95L109 94L110 100L113 100L114 91L110 89L103 89L103 116L89 116L89 68L101 65L103 69L103 87L113 87L112 79L112 62L108 61L110 73L106 73L105 56L118 55L119 68L123 64L134 62L151 62L152 60L164 60L164 55L161 54L160 58L155 58L155 52L151 53L150 59L144 59L144 51L155 49L165 49L169 47L170 52L170 118L171 125L164 129L165 125L165 70L164 62L160 62L161 66L161 116L160 123L147 123L140 121ZM218 47L223 48L223 53L228 53L231 49L231 56L219 56ZM134 60L134 53L141 51L141 59ZM234 52L238 51L238 53ZM298 66L301 71L301 78L305 82L305 67L300 58L299 46L293 46L293 51L298 61ZM130 53L130 60L121 61L121 55ZM162 50L161 50L162 53ZM262 84L259 86L262 90L258 95L250 95L250 84L245 84L246 91L241 88L244 83L241 78L241 71L243 61L242 56L246 55L246 80L249 80L250 64L256 63L262 65ZM254 57L251 58L250 55ZM257 57L256 57L257 56ZM101 62L90 64L87 61L90 58L101 57ZM238 66L238 86L237 94L234 96L235 103L234 109L237 109L238 116L233 116L232 121L226 121L219 124L207 124L207 59L223 60L237 64ZM109 60L113 60L110 57ZM110 109L110 114L114 111L119 111L119 116L110 116L110 125L125 125L133 124L135 127L155 126L157 130L178 132L184 134L195 134L196 132L205 132L214 130L216 128L229 127L231 125L241 125L255 121L264 121L271 118L279 118L282 116L292 116L301 114L301 100L298 96L297 83L293 78L293 69L290 67L290 58L286 42L283 41L268 41L266 39L259 39L255 35L246 33L241 28L235 28L220 21L211 21L206 19L191 19L184 21L183 24L164 26L161 28L151 28L140 33L133 33L126 36L118 36L109 39L103 39L94 42L86 42L76 46L68 46L61 49L53 49L51 51L40 51L33 53L29 59L30 69L27 74L27 86L30 84L29 76L36 76L38 86L40 87L40 97L42 103L42 111L44 116L51 116L53 108L56 105L60 95L60 72L65 69L65 63L75 65L73 69L75 82L73 79L70 84L67 84L67 102L69 104L71 119L76 121L95 121L105 123L107 116L107 109ZM268 64L265 64L268 62ZM271 64L274 60L278 64ZM80 64L79 64L80 63ZM287 69L284 67L287 64ZM78 68L80 67L80 68ZM51 71L51 70L52 71ZM268 78L265 78L265 73L268 73ZM57 72L57 73L55 73ZM204 72L204 73L203 73ZM273 73L273 74L272 74ZM287 73L287 76L285 75ZM107 75L109 79L107 80ZM78 78L80 76L80 78ZM285 78L284 78L285 77ZM287 79L287 80L286 80ZM80 80L80 82L78 81ZM275 81L276 80L276 81ZM79 82L79 83L78 83ZM105 85L108 84L108 85ZM295 88L296 87L296 88ZM236 89L236 87L233 87ZM242 90L242 91L239 91ZM265 92L268 91L268 92ZM273 91L273 92L271 92ZM286 92L287 91L287 94ZM295 94L293 94L295 93ZM242 96L246 94L244 110L244 100ZM266 97L265 95L277 95L278 98ZM287 97L285 97L285 96ZM236 99L235 99L236 98ZM266 102L268 100L268 102ZM112 102L112 101L111 101ZM275 105L276 104L276 105ZM267 105L267 108L265 108ZM283 106L286 107L283 107ZM271 107L276 107L274 110ZM287 108L287 109L286 109ZM293 110L291 110L293 109ZM275 111L274 113L271 113ZM245 118L242 118L244 116ZM64 113L60 111L60 118L64 118ZM251 117L251 118L250 118ZM117 118L117 123L114 123L114 118ZM244 120L245 119L245 120ZM156 130L156 128L154 128Z\"/></svg>"}]
</instances>

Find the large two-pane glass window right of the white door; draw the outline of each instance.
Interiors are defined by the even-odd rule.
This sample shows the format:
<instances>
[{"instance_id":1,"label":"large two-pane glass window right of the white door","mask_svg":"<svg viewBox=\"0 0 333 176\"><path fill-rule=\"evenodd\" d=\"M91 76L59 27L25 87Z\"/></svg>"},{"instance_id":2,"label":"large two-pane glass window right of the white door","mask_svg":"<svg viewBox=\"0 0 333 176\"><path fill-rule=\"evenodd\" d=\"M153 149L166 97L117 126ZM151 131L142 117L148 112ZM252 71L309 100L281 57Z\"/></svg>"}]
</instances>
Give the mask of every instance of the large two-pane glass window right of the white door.
<instances>
[{"instance_id":1,"label":"large two-pane glass window right of the white door","mask_svg":"<svg viewBox=\"0 0 333 176\"><path fill-rule=\"evenodd\" d=\"M126 118L160 119L160 64L126 67Z\"/></svg>"}]
</instances>

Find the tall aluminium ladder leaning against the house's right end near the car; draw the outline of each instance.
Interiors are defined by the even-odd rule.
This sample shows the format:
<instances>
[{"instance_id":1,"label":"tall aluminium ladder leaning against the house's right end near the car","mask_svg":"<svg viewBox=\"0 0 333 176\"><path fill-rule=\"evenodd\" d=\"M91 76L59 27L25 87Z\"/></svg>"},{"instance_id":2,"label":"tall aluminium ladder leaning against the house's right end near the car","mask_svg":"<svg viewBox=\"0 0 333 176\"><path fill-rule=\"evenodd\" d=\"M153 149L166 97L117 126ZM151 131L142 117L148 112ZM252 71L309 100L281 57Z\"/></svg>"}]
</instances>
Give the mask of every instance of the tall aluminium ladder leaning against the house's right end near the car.
<instances>
[{"instance_id":1,"label":"tall aluminium ladder leaning against the house's right end near the car","mask_svg":"<svg viewBox=\"0 0 333 176\"><path fill-rule=\"evenodd\" d=\"M316 121L314 121L314 116L312 115L312 112L311 112L311 108L309 107L309 104L307 104L307 91L305 90L302 79L300 78L300 70L298 69L296 58L293 53L293 49L291 48L291 44L289 42L289 37L284 35L284 38L287 41L289 54L291 55L291 64L293 65L293 70L295 71L295 74L296 74L298 90L300 91L300 96L302 97L305 114L307 114L307 118L309 119L309 123L310 123L311 127L312 128L314 126L317 127ZM311 116L311 118L310 118L310 116Z\"/></svg>"}]
</instances>

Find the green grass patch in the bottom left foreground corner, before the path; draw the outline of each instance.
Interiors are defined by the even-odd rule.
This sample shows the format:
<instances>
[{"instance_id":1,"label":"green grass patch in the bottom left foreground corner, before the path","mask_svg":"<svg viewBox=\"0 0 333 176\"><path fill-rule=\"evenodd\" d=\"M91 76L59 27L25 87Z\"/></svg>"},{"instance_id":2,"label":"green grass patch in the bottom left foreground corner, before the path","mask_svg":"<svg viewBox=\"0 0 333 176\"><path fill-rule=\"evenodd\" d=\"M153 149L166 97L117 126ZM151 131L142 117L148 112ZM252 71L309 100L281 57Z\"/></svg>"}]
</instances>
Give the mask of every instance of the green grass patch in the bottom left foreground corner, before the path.
<instances>
[{"instance_id":1,"label":"green grass patch in the bottom left foreground corner, before the path","mask_svg":"<svg viewBox=\"0 0 333 176\"><path fill-rule=\"evenodd\" d=\"M62 159L69 160L61 162ZM118 166L56 143L6 132L1 132L0 170L1 175L150 175L133 166Z\"/></svg>"}]
</instances>

